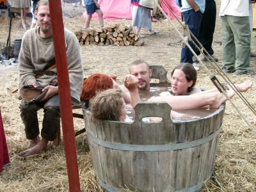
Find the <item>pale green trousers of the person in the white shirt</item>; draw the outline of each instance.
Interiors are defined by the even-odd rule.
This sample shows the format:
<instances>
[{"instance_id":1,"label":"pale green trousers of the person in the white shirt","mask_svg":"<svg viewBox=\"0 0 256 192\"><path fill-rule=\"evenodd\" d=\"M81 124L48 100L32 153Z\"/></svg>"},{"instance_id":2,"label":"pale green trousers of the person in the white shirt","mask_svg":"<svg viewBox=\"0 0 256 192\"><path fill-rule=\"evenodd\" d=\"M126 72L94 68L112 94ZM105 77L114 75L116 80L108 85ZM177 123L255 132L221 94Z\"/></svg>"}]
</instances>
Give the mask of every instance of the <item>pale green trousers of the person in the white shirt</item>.
<instances>
[{"instance_id":1,"label":"pale green trousers of the person in the white shirt","mask_svg":"<svg viewBox=\"0 0 256 192\"><path fill-rule=\"evenodd\" d=\"M250 67L251 32L248 17L221 16L223 69L235 68L236 72Z\"/></svg>"}]
</instances>

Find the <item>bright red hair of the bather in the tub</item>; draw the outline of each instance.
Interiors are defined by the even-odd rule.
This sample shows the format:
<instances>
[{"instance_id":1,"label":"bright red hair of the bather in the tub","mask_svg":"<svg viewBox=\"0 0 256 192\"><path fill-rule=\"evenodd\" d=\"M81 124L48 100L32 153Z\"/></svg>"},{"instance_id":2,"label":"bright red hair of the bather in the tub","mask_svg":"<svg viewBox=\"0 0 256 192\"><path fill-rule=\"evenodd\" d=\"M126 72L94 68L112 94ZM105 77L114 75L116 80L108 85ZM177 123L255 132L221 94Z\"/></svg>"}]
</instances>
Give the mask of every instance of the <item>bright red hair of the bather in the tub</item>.
<instances>
[{"instance_id":1,"label":"bright red hair of the bather in the tub","mask_svg":"<svg viewBox=\"0 0 256 192\"><path fill-rule=\"evenodd\" d=\"M97 92L102 92L113 88L113 79L105 74L93 74L84 80L81 101L88 107L90 99L94 97Z\"/></svg>"}]
</instances>

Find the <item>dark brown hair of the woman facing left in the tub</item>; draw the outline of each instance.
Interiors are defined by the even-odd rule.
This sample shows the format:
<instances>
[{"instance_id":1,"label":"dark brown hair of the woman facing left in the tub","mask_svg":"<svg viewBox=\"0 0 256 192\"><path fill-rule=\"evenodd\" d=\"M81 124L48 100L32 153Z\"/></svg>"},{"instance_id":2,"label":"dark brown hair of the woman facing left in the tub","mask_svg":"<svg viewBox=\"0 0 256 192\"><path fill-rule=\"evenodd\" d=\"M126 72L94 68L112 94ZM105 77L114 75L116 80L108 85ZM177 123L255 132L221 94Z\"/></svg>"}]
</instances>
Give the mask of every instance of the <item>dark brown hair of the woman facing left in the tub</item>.
<instances>
[{"instance_id":1,"label":"dark brown hair of the woman facing left in the tub","mask_svg":"<svg viewBox=\"0 0 256 192\"><path fill-rule=\"evenodd\" d=\"M177 65L175 68L173 68L172 75L173 75L175 69L182 70L182 72L184 72L184 74L186 76L186 80L188 82L193 81L193 84L191 86L189 86L189 88L188 88L188 92L191 92L192 88L196 84L196 76L197 76L196 70L193 67L193 65L191 65L190 63L180 63L180 65Z\"/></svg>"}]
</instances>

